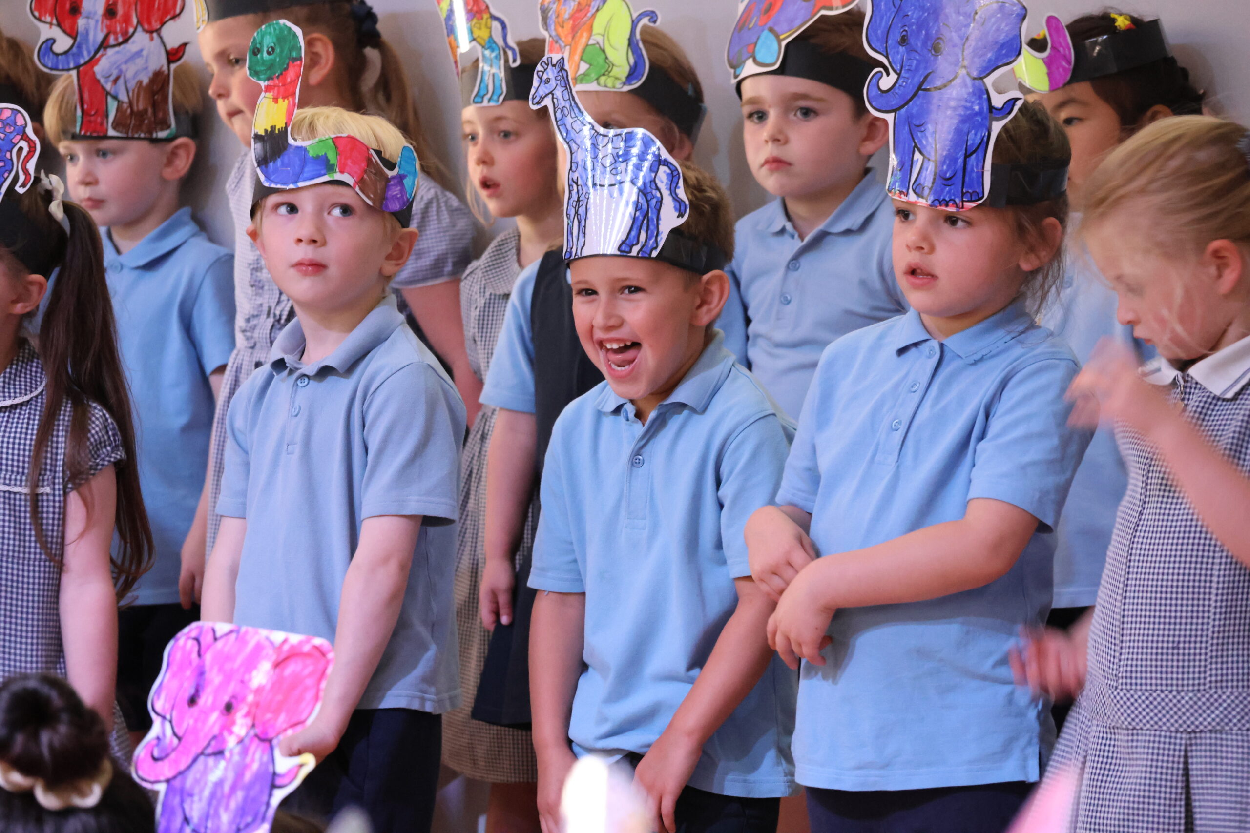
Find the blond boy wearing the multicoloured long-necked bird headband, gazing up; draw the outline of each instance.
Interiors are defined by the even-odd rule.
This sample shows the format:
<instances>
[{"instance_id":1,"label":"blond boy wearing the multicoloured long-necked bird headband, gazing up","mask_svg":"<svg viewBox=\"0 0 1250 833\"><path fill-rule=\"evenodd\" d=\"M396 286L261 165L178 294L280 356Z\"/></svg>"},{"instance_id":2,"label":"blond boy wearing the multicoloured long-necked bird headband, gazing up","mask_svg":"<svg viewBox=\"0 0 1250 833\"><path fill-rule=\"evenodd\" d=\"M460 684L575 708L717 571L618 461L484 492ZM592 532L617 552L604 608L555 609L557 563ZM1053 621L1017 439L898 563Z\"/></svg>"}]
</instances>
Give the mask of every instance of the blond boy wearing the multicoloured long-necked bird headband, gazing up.
<instances>
[{"instance_id":1,"label":"blond boy wearing the multicoloured long-necked bird headband, gazing up","mask_svg":"<svg viewBox=\"0 0 1250 833\"><path fill-rule=\"evenodd\" d=\"M249 236L295 321L230 405L204 618L332 639L316 718L281 741L320 762L289 808L359 804L379 833L420 833L439 716L460 703L451 581L465 407L388 291L416 242L411 202L388 214L374 207L380 187L362 196L388 181L376 157L404 159L402 134L315 107L290 135L354 136L372 156L351 184L256 184Z\"/></svg>"}]
</instances>

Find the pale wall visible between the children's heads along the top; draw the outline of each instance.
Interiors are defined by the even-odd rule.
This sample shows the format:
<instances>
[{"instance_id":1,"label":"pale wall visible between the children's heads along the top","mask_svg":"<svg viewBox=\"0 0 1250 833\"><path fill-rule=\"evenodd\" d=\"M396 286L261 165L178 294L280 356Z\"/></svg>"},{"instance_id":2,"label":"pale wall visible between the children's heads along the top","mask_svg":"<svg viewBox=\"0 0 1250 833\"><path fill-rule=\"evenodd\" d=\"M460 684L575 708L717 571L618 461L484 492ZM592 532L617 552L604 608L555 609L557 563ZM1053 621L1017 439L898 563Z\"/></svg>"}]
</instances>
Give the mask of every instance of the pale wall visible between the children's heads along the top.
<instances>
[{"instance_id":1,"label":"pale wall visible between the children's heads along the top","mask_svg":"<svg viewBox=\"0 0 1250 833\"><path fill-rule=\"evenodd\" d=\"M448 169L462 179L460 99L435 0L374 2L381 19L382 35L395 45L408 66L421 119L435 149ZM491 4L508 17L515 39L542 34L538 22L538 0L491 0ZM635 9L659 10L661 27L681 42L699 70L709 112L695 159L704 167L715 171L725 184L739 215L758 207L766 195L751 179L742 160L738 97L725 67L725 44L736 11L734 0L632 0L632 5ZM26 0L0 0L0 25L9 34L35 42L46 35L30 20L26 6ZM1048 11L1069 20L1085 11L1098 10L1102 4L1098 0L1050 0L1046 6L1034 2L1034 7L1030 30L1041 29L1041 19ZM1250 77L1250 50L1246 49L1250 2L1122 0L1120 7L1144 16L1161 16L1178 57L1190 67L1198 82L1209 90L1214 109L1250 122L1250 89L1238 82ZM189 20L180 24L176 31L168 34L166 42L189 40L191 47L188 61L200 69L202 75L194 25ZM196 181L188 187L186 197L212 237L230 245L232 230L222 187L241 147L234 135L214 117L211 107L202 120L201 130L205 134L202 157L196 170Z\"/></svg>"}]
</instances>

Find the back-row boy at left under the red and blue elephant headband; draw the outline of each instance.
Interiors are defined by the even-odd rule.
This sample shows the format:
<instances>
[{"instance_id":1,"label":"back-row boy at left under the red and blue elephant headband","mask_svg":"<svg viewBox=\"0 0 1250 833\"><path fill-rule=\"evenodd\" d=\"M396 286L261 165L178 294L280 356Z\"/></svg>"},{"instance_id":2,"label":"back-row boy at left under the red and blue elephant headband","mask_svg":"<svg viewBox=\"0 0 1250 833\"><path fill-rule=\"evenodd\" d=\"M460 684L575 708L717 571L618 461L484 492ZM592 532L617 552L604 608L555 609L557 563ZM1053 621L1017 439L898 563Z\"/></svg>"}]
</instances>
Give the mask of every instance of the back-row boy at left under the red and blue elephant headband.
<instances>
[{"instance_id":1,"label":"back-row boy at left under the red and blue elephant headband","mask_svg":"<svg viewBox=\"0 0 1250 833\"><path fill-rule=\"evenodd\" d=\"M62 75L44 124L70 194L100 226L152 528L152 568L121 609L118 634L118 702L138 738L151 728L148 692L165 646L200 618L212 410L234 350L234 256L180 207L196 154L191 122L204 106L195 71L174 69L172 139L82 137L76 97Z\"/></svg>"}]
</instances>

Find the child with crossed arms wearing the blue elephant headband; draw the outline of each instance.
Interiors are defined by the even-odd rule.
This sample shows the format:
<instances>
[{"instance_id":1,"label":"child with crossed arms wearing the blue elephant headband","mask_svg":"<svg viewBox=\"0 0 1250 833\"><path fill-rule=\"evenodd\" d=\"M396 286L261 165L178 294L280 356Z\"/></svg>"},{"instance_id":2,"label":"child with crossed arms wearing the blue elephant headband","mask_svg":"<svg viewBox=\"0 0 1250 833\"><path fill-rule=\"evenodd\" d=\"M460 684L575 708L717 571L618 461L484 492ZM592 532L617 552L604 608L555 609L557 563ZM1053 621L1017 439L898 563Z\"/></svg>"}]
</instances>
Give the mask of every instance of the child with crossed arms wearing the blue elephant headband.
<instances>
[{"instance_id":1,"label":"child with crossed arms wearing the blue elephant headband","mask_svg":"<svg viewBox=\"0 0 1250 833\"><path fill-rule=\"evenodd\" d=\"M1045 619L1089 442L1066 425L1076 361L1032 318L1062 270L1069 149L1025 104L992 152L1009 185L989 205L895 201L911 311L825 350L778 505L746 526L780 599L769 641L804 661L794 757L818 833L998 833L1054 733L1009 648Z\"/></svg>"}]
</instances>

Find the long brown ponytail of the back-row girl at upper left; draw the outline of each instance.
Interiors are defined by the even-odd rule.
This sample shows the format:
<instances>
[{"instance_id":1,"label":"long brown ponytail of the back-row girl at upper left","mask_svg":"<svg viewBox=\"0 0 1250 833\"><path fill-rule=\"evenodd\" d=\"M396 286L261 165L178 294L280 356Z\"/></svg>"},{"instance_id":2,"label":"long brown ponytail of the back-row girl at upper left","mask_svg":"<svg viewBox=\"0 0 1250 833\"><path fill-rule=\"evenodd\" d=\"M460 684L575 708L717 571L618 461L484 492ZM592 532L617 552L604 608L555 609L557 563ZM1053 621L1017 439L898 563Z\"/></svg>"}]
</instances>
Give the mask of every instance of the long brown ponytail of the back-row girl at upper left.
<instances>
[{"instance_id":1,"label":"long brown ponytail of the back-row girl at upper left","mask_svg":"<svg viewBox=\"0 0 1250 833\"><path fill-rule=\"evenodd\" d=\"M416 151L421 172L446 187L450 177L435 156L434 146L421 126L421 116L418 112L416 101L412 99L404 62L400 61L399 54L384 37L378 37L374 42L362 42L356 21L351 16L351 6L350 1L318 2L265 11L255 17L261 24L271 20L289 20L304 30L305 36L309 32L316 32L328 37L334 45L334 65L340 72L339 77L348 81L344 86L351 95L351 101L348 102L350 109L359 112L375 112L395 125L408 136L412 150ZM376 49L381 60L378 77L368 90L361 89L360 85L360 79L364 79L366 74L366 47Z\"/></svg>"}]
</instances>

